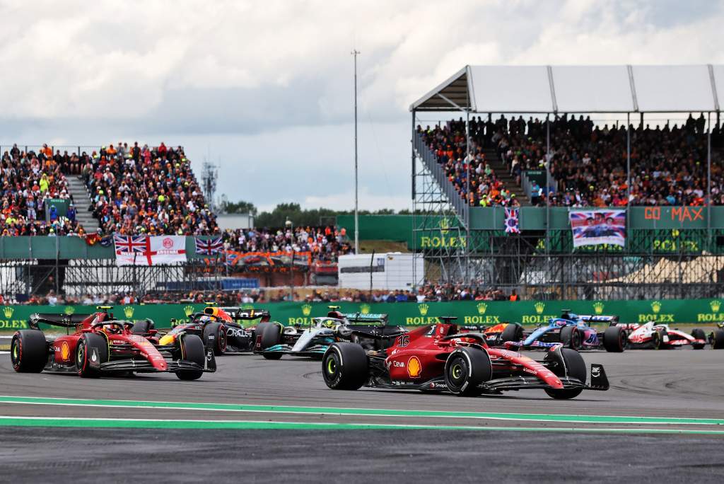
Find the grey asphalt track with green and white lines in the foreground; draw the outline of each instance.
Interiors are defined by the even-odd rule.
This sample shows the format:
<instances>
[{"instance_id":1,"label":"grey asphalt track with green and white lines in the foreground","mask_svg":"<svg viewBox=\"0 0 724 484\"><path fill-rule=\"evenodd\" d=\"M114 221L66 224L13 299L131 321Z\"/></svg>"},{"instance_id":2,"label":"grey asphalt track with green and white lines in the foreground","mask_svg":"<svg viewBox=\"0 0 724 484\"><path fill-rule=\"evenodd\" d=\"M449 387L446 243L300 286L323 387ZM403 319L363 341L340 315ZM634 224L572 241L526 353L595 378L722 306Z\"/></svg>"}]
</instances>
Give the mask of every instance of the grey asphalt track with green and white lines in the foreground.
<instances>
[{"instance_id":1,"label":"grey asphalt track with green and white lines in the foreground","mask_svg":"<svg viewBox=\"0 0 724 484\"><path fill-rule=\"evenodd\" d=\"M720 481L724 351L583 355L612 388L555 401L332 391L319 362L286 356L222 356L182 382L18 374L0 354L0 465L12 482L138 480L118 459L188 482Z\"/></svg>"}]
</instances>

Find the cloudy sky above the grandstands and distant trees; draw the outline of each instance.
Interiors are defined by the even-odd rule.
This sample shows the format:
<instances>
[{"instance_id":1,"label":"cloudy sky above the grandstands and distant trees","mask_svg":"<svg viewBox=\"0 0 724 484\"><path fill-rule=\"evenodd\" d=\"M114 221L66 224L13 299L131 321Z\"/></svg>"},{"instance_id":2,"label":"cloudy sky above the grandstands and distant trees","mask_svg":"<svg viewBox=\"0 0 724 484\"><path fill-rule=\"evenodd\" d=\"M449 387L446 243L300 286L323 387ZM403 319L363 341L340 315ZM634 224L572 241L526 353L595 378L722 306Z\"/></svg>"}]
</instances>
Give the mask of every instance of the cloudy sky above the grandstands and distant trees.
<instances>
[{"instance_id":1,"label":"cloudy sky above the grandstands and distant trees","mask_svg":"<svg viewBox=\"0 0 724 484\"><path fill-rule=\"evenodd\" d=\"M353 207L355 47L363 209L411 206L408 107L466 64L724 63L706 0L0 0L0 17L2 145L182 144L261 209Z\"/></svg>"}]
</instances>

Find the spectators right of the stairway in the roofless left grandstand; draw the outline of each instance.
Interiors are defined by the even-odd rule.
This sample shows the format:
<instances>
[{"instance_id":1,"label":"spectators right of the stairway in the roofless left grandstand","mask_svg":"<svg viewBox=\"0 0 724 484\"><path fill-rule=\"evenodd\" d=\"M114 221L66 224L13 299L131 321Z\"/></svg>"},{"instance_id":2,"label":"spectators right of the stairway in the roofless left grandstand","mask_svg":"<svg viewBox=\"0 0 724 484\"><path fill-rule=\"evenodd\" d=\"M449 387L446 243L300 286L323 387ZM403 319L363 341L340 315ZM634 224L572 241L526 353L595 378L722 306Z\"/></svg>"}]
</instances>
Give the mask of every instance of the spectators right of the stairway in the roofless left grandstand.
<instances>
[{"instance_id":1,"label":"spectators right of the stairway in the roofless left grandstand","mask_svg":"<svg viewBox=\"0 0 724 484\"><path fill-rule=\"evenodd\" d=\"M219 233L181 146L111 143L84 157L80 172L103 233Z\"/></svg>"}]
</instances>

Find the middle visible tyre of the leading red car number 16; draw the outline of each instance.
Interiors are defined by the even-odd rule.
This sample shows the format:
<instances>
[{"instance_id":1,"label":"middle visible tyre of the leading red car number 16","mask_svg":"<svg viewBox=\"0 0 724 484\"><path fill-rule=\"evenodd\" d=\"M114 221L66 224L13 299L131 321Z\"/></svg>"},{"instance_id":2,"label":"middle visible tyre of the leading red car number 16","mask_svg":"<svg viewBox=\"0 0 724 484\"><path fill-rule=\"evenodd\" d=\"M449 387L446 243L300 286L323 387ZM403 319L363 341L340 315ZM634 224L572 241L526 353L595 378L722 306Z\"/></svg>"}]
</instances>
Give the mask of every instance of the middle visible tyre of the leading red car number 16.
<instances>
[{"instance_id":1,"label":"middle visible tyre of the leading red car number 16","mask_svg":"<svg viewBox=\"0 0 724 484\"><path fill-rule=\"evenodd\" d=\"M492 377L493 370L487 351L478 348L460 348L452 351L445 361L445 385L457 396L479 396L481 383Z\"/></svg>"}]
</instances>

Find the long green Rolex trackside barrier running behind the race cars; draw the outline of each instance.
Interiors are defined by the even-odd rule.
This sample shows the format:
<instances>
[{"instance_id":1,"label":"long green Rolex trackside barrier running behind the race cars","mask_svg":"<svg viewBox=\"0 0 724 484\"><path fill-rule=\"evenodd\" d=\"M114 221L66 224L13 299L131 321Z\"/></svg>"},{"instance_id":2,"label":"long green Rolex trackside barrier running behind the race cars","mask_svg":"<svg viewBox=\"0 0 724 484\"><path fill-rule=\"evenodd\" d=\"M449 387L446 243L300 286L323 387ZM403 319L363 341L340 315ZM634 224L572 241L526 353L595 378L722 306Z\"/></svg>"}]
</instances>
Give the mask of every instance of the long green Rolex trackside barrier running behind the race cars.
<instances>
[{"instance_id":1,"label":"long green Rolex trackside barrier running behind the race cars","mask_svg":"<svg viewBox=\"0 0 724 484\"><path fill-rule=\"evenodd\" d=\"M523 325L546 324L564 309L578 314L610 314L621 322L647 321L669 324L696 323L712 326L724 321L723 299L660 299L649 301L457 301L426 303L332 303L342 312L390 315L390 324L421 326L437 322L439 316L458 317L458 324L493 325L497 322L521 322ZM330 304L280 302L245 304L245 309L268 309L271 319L284 325L308 324L313 317L324 316ZM138 304L115 306L111 312L118 320L138 321L149 318L156 327L170 327L172 318L184 319L201 311L204 304ZM55 314L89 314L95 306L0 306L0 330L28 327L34 312ZM250 325L254 322L250 322ZM56 328L62 331L62 328Z\"/></svg>"}]
</instances>

